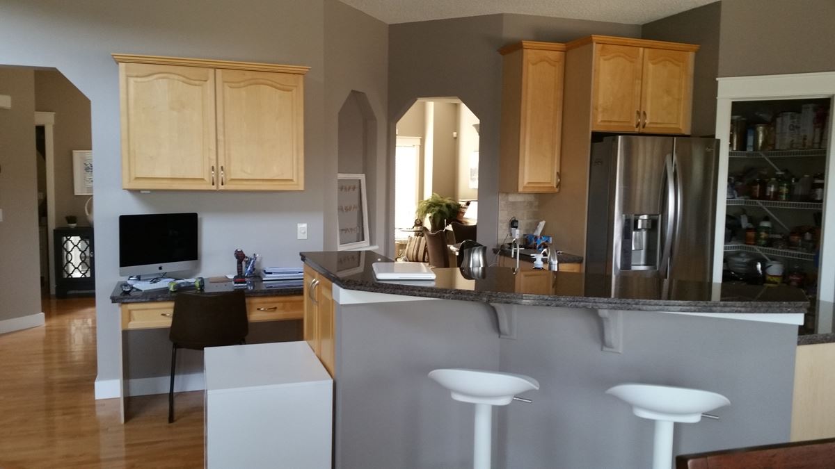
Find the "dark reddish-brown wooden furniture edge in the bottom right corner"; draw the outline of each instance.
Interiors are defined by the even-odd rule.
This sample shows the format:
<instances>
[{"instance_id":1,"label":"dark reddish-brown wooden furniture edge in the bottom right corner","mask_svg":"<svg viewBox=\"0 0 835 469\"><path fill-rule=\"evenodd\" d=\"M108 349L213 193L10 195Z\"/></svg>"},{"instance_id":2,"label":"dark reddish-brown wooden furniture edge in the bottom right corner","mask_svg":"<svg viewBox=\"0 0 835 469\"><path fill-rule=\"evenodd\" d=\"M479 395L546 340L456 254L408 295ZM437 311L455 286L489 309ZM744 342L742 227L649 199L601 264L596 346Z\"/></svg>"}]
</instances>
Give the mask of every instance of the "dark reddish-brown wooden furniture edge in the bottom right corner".
<instances>
[{"instance_id":1,"label":"dark reddish-brown wooden furniture edge in the bottom right corner","mask_svg":"<svg viewBox=\"0 0 835 469\"><path fill-rule=\"evenodd\" d=\"M676 469L832 469L835 438L676 456Z\"/></svg>"}]
</instances>

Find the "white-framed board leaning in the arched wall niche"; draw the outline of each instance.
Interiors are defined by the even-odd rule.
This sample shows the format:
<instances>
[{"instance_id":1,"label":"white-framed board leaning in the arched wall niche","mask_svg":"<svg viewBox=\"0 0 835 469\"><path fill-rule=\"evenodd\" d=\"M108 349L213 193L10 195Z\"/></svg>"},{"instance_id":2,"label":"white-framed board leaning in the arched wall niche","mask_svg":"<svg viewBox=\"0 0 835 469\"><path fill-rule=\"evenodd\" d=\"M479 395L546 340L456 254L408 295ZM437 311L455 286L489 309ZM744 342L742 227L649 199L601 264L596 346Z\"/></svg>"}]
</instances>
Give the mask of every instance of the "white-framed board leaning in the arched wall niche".
<instances>
[{"instance_id":1,"label":"white-framed board leaning in the arched wall niche","mask_svg":"<svg viewBox=\"0 0 835 469\"><path fill-rule=\"evenodd\" d=\"M337 175L338 250L370 245L365 174Z\"/></svg>"}]
</instances>

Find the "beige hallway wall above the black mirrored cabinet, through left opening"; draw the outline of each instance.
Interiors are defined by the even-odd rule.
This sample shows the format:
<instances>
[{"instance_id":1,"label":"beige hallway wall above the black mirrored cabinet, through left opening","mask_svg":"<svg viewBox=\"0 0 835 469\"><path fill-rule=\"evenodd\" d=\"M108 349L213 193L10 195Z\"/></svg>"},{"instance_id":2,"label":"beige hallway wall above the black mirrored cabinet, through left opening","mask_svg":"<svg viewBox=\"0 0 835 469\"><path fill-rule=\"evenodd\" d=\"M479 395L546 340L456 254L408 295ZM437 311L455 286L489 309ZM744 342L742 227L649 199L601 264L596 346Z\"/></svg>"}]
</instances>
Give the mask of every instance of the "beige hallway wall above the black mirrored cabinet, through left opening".
<instances>
[{"instance_id":1,"label":"beige hallway wall above the black mirrored cabinet, through left opening","mask_svg":"<svg viewBox=\"0 0 835 469\"><path fill-rule=\"evenodd\" d=\"M81 226L89 225L84 216L89 195L75 195L73 188L73 150L92 149L90 100L60 72L36 70L35 108L55 113L55 225L64 226L65 215L75 215Z\"/></svg>"}]
</instances>

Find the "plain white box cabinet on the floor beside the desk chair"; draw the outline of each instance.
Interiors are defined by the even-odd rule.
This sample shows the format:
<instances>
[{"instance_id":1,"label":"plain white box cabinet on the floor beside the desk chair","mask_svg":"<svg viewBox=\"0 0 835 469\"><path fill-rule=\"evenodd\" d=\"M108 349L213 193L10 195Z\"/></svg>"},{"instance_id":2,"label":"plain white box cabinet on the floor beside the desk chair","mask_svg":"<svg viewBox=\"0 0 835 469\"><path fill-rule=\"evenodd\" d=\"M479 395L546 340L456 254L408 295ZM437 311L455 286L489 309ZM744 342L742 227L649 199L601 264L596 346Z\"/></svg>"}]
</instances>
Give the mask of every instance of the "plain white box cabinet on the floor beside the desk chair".
<instances>
[{"instance_id":1,"label":"plain white box cabinet on the floor beside the desk chair","mask_svg":"<svg viewBox=\"0 0 835 469\"><path fill-rule=\"evenodd\" d=\"M331 467L333 381L307 342L205 349L207 467Z\"/></svg>"}]
</instances>

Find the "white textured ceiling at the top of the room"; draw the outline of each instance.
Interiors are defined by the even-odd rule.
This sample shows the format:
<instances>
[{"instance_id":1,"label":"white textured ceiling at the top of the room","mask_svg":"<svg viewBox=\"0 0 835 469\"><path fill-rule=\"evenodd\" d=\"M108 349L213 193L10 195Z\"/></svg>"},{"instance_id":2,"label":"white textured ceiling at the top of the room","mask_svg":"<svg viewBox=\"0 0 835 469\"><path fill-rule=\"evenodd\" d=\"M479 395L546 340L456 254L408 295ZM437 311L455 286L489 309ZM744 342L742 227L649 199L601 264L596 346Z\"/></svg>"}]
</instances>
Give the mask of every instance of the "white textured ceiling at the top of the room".
<instances>
[{"instance_id":1,"label":"white textured ceiling at the top of the room","mask_svg":"<svg viewBox=\"0 0 835 469\"><path fill-rule=\"evenodd\" d=\"M384 23L519 13L645 24L716 0L342 0Z\"/></svg>"}]
</instances>

